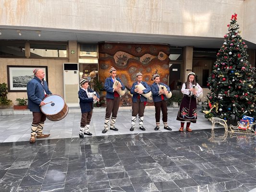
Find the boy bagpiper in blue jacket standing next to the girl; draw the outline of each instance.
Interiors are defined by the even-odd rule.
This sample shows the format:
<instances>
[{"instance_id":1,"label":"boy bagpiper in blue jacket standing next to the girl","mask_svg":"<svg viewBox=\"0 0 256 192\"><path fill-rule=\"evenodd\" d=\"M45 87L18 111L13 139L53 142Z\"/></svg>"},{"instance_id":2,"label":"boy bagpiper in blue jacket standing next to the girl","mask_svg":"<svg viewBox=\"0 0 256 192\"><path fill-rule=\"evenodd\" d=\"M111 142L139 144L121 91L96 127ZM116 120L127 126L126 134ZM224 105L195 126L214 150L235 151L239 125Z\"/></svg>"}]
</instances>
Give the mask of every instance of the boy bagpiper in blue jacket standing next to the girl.
<instances>
[{"instance_id":1,"label":"boy bagpiper in blue jacket standing next to the girl","mask_svg":"<svg viewBox=\"0 0 256 192\"><path fill-rule=\"evenodd\" d=\"M164 124L164 129L171 131L172 129L168 126L167 123L167 97L166 95L170 93L170 87L164 83L160 83L160 76L159 74L154 74L152 80L154 80L154 83L151 85L151 91L153 96L153 101L155 103L155 109L156 109L156 124L155 131L158 131L160 126L160 111L162 110L162 120ZM167 91L163 89L159 89L160 85L164 85L167 88Z\"/></svg>"}]
</instances>

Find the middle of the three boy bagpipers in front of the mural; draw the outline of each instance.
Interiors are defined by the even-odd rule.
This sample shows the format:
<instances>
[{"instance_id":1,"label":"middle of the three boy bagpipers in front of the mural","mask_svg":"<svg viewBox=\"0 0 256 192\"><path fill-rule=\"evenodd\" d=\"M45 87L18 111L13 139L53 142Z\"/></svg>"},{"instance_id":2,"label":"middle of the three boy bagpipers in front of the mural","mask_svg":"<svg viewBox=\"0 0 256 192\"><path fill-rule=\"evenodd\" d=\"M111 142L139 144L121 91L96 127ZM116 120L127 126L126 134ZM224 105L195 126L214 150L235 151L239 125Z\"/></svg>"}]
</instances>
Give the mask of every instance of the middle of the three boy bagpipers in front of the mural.
<instances>
[{"instance_id":1,"label":"middle of the three boy bagpipers in front of the mural","mask_svg":"<svg viewBox=\"0 0 256 192\"><path fill-rule=\"evenodd\" d=\"M138 72L136 74L137 81L134 82L131 88L131 94L133 94L133 106L132 106L132 123L131 123L131 129L130 131L134 131L134 125L136 122L137 114L139 114L139 128L142 131L145 131L146 129L143 127L143 120L144 120L144 109L146 106L146 97L142 96L143 93L148 93L151 91L150 86L144 81L142 81L142 73ZM139 91L138 88L135 88L135 85L142 84L146 89L143 91Z\"/></svg>"}]
</instances>

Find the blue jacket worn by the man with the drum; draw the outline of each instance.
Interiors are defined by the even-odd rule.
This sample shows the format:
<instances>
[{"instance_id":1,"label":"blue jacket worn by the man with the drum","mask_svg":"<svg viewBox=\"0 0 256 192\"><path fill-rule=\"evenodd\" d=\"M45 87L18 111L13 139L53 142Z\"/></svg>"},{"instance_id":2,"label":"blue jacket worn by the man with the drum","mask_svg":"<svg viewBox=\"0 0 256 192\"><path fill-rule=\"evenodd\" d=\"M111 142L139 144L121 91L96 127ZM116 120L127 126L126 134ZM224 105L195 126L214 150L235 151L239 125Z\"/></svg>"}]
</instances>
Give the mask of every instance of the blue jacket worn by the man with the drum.
<instances>
[{"instance_id":1,"label":"blue jacket worn by the man with the drum","mask_svg":"<svg viewBox=\"0 0 256 192\"><path fill-rule=\"evenodd\" d=\"M40 112L40 103L45 98L45 92L47 95L51 95L52 93L49 91L48 84L43 80L43 84L41 84L41 80L35 76L27 83L27 98L28 98L28 108L32 112ZM45 92L44 92L44 88Z\"/></svg>"}]
</instances>

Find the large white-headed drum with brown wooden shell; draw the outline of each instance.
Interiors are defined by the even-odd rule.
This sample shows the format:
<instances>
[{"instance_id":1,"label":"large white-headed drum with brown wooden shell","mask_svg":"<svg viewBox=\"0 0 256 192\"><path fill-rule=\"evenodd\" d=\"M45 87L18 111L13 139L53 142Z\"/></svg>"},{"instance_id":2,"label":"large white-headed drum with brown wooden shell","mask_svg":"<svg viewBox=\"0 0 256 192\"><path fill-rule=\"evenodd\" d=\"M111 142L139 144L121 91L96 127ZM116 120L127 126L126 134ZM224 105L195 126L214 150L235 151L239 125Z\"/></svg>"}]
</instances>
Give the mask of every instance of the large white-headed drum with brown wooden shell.
<instances>
[{"instance_id":1,"label":"large white-headed drum with brown wooden shell","mask_svg":"<svg viewBox=\"0 0 256 192\"><path fill-rule=\"evenodd\" d=\"M46 105L40 108L49 120L62 120L68 114L68 106L62 96L50 95L45 97L43 102L45 102Z\"/></svg>"}]
</instances>

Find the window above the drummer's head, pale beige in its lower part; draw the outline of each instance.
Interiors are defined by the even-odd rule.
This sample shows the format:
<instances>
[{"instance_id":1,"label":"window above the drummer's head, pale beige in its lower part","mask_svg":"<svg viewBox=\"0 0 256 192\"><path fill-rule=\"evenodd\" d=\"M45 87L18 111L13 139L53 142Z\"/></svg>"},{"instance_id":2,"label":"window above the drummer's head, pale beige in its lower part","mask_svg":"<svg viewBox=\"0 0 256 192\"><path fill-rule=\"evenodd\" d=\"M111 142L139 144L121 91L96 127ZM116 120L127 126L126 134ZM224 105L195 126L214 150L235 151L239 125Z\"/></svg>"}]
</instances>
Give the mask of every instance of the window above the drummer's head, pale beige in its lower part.
<instances>
[{"instance_id":1,"label":"window above the drummer's head, pale beige in its lower part","mask_svg":"<svg viewBox=\"0 0 256 192\"><path fill-rule=\"evenodd\" d=\"M67 45L30 43L30 57L67 57Z\"/></svg>"}]
</instances>

